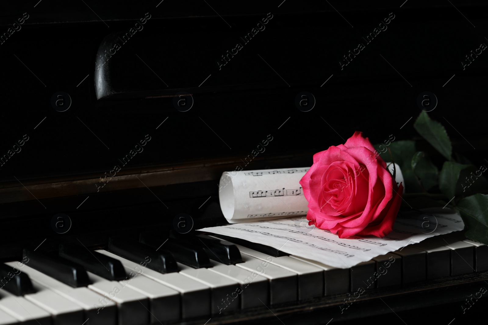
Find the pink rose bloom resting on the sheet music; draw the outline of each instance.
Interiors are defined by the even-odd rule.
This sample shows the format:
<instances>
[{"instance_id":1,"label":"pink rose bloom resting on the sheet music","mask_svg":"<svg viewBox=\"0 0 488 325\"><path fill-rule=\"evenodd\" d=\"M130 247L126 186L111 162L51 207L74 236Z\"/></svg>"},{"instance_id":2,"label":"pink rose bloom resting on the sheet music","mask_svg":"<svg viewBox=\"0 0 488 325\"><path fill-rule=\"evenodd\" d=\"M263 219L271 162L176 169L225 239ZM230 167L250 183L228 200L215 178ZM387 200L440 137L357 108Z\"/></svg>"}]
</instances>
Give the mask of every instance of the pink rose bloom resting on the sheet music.
<instances>
[{"instance_id":1,"label":"pink rose bloom resting on the sheet music","mask_svg":"<svg viewBox=\"0 0 488 325\"><path fill-rule=\"evenodd\" d=\"M358 131L344 145L314 154L300 185L308 201L308 224L339 238L386 236L402 202L403 185L397 185L385 161Z\"/></svg>"}]
</instances>

